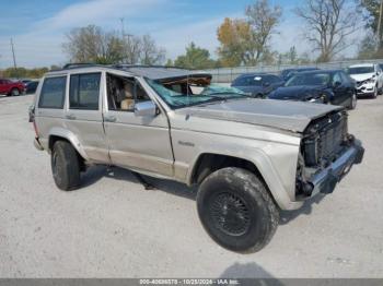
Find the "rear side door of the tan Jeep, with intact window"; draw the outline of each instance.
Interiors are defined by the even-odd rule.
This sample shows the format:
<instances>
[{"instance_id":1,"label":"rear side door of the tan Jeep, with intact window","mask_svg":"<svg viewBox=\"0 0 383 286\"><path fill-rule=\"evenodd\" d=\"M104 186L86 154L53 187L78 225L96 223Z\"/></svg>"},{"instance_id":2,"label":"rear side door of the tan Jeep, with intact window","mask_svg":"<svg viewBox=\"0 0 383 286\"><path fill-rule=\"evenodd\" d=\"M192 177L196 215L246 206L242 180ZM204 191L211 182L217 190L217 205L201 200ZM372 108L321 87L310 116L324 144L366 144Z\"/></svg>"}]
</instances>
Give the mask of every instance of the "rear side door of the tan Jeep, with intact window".
<instances>
[{"instance_id":1,"label":"rear side door of the tan Jeep, with intact window","mask_svg":"<svg viewBox=\"0 0 383 286\"><path fill-rule=\"evenodd\" d=\"M109 163L101 111L102 76L101 72L70 74L65 120L91 160Z\"/></svg>"}]
</instances>

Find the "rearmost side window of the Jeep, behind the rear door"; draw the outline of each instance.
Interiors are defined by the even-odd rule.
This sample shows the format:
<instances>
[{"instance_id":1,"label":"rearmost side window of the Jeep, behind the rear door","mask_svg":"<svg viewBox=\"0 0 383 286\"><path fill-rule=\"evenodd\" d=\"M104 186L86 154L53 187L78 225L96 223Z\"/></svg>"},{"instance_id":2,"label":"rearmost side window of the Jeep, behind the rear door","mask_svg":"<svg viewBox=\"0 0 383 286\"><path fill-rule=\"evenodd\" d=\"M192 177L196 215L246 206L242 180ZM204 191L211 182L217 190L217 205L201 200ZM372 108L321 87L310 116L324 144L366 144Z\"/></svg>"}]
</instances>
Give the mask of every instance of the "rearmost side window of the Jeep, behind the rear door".
<instances>
[{"instance_id":1,"label":"rearmost side window of the Jeep, behind the rear door","mask_svg":"<svg viewBox=\"0 0 383 286\"><path fill-rule=\"evenodd\" d=\"M66 97L67 76L47 78L44 80L39 95L39 108L62 109Z\"/></svg>"}]
</instances>

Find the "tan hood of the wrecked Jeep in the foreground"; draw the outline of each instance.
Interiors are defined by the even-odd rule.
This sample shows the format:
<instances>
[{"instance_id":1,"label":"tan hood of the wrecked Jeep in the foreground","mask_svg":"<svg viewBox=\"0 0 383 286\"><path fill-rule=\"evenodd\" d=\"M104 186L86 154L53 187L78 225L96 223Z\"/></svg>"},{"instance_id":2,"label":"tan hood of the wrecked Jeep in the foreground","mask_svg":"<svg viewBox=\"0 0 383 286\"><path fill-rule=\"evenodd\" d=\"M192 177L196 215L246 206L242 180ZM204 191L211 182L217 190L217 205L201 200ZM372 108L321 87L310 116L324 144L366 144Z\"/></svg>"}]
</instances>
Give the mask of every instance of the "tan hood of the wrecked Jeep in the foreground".
<instances>
[{"instance_id":1,"label":"tan hood of the wrecked Jeep in the foreground","mask_svg":"<svg viewBox=\"0 0 383 286\"><path fill-rule=\"evenodd\" d=\"M188 117L237 121L303 132L313 119L340 109L343 107L333 105L244 98L182 108L175 112Z\"/></svg>"}]
</instances>

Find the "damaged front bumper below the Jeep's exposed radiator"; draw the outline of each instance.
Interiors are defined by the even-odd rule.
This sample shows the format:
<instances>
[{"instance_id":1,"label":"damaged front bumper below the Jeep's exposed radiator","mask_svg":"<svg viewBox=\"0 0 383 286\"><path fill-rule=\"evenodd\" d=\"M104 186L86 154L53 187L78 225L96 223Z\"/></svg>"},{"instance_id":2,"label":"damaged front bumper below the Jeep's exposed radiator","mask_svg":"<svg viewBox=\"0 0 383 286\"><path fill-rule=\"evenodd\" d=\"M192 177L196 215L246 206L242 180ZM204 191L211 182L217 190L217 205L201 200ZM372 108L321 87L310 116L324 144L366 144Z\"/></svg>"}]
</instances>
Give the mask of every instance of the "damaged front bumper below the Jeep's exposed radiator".
<instances>
[{"instance_id":1,"label":"damaged front bumper below the Jeep's exposed radiator","mask_svg":"<svg viewBox=\"0 0 383 286\"><path fill-rule=\"evenodd\" d=\"M364 148L361 142L352 139L347 151L339 158L309 180L313 188L311 196L320 192L332 193L335 186L350 171L352 165L363 160L363 155Z\"/></svg>"}]
</instances>

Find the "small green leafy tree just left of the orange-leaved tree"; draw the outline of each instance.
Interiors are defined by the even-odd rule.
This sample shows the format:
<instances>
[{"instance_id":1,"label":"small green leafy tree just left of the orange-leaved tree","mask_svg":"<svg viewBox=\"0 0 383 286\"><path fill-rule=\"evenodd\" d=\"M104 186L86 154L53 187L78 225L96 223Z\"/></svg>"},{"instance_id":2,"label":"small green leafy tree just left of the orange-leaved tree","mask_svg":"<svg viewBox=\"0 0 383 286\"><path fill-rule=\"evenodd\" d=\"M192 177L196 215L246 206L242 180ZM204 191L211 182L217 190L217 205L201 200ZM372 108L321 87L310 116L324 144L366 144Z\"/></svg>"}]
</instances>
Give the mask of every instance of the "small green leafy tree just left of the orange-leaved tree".
<instances>
[{"instance_id":1,"label":"small green leafy tree just left of the orange-leaved tree","mask_svg":"<svg viewBox=\"0 0 383 286\"><path fill-rule=\"evenodd\" d=\"M216 67L216 61L210 59L207 49L197 47L193 41L186 47L186 53L178 56L174 65L185 69L211 69Z\"/></svg>"}]
</instances>

